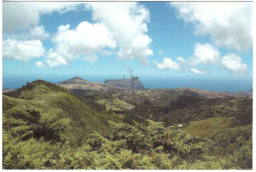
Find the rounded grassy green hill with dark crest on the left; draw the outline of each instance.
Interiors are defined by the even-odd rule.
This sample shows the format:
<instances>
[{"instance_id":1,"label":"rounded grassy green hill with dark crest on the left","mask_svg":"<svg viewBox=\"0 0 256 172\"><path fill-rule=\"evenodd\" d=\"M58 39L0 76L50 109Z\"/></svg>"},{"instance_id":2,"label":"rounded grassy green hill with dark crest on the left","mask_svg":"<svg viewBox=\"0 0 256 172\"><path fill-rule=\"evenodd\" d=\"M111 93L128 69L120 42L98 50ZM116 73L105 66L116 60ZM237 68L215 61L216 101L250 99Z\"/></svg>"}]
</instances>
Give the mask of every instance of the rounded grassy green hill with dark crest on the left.
<instances>
[{"instance_id":1,"label":"rounded grassy green hill with dark crest on the left","mask_svg":"<svg viewBox=\"0 0 256 172\"><path fill-rule=\"evenodd\" d=\"M18 98L3 95L3 113L8 120L9 117L20 119L15 115L20 111L25 115L36 113L38 116L36 121L23 120L30 125L34 123L38 125L43 115L56 113L58 120L69 121L64 133L67 137L73 138L74 143L82 142L94 131L106 130L107 120L118 119L114 115L101 114L96 109L90 108L81 98L71 94L67 89L44 81L29 83L19 88L18 93Z\"/></svg>"}]
</instances>

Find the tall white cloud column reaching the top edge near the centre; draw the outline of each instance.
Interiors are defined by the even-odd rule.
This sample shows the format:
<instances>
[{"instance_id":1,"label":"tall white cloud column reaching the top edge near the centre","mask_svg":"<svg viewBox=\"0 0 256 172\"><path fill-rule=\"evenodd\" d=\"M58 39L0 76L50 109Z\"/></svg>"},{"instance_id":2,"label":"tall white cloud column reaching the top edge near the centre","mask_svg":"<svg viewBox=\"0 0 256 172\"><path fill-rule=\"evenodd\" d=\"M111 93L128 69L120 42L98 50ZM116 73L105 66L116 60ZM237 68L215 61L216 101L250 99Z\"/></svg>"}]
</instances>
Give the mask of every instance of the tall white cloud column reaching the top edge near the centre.
<instances>
[{"instance_id":1,"label":"tall white cloud column reaching the top edge near the centre","mask_svg":"<svg viewBox=\"0 0 256 172\"><path fill-rule=\"evenodd\" d=\"M150 12L136 2L89 3L93 10L93 20L111 30L117 43L119 59L140 59L148 64L148 56L153 55L150 49L152 39L146 34Z\"/></svg>"}]
</instances>

